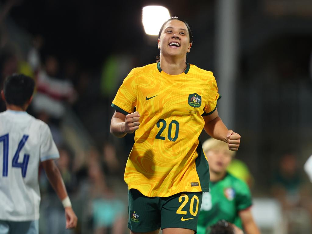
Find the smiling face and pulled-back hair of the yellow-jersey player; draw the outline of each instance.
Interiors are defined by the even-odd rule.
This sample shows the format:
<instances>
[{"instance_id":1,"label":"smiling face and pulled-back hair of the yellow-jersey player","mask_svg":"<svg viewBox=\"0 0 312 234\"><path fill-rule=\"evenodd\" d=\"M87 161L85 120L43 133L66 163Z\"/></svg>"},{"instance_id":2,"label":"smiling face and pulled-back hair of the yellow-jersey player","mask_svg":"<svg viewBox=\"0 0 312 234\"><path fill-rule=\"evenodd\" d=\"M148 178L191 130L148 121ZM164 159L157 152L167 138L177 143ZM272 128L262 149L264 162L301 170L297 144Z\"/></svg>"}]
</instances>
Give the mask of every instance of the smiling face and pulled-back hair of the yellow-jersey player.
<instances>
[{"instance_id":1,"label":"smiling face and pulled-back hair of the yellow-jersey player","mask_svg":"<svg viewBox=\"0 0 312 234\"><path fill-rule=\"evenodd\" d=\"M186 58L186 53L190 52L191 46L185 23L180 20L168 21L158 39L161 55Z\"/></svg>"}]
</instances>

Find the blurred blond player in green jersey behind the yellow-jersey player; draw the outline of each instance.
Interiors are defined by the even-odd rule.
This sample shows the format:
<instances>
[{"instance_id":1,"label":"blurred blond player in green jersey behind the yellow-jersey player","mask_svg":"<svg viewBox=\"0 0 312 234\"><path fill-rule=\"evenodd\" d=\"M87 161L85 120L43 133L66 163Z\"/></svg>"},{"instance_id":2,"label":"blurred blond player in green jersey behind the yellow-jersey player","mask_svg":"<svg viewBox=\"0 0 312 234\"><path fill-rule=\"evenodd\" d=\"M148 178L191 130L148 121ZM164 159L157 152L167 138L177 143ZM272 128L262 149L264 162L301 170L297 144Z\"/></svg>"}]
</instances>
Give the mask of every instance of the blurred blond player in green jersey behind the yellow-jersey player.
<instances>
[{"instance_id":1,"label":"blurred blond player in green jersey behind the yellow-jersey player","mask_svg":"<svg viewBox=\"0 0 312 234\"><path fill-rule=\"evenodd\" d=\"M227 172L235 152L227 144L210 138L202 144L208 163L209 193L203 193L198 217L197 234L205 234L207 227L226 220L246 234L259 234L251 211L251 194L245 182ZM236 225L236 226L235 226Z\"/></svg>"}]
</instances>

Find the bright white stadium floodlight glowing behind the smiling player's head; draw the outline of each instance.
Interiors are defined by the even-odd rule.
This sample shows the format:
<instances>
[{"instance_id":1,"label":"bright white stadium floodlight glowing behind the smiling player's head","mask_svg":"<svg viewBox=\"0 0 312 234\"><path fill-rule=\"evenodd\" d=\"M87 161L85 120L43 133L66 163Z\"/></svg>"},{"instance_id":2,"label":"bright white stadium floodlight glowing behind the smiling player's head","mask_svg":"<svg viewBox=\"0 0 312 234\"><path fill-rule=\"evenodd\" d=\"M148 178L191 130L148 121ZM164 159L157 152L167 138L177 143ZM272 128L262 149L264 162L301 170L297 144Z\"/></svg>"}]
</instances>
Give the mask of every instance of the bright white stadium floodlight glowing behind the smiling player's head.
<instances>
[{"instance_id":1,"label":"bright white stadium floodlight glowing behind the smiling player's head","mask_svg":"<svg viewBox=\"0 0 312 234\"><path fill-rule=\"evenodd\" d=\"M169 11L162 6L147 6L142 10L142 23L146 34L158 35L163 23L170 18Z\"/></svg>"}]
</instances>

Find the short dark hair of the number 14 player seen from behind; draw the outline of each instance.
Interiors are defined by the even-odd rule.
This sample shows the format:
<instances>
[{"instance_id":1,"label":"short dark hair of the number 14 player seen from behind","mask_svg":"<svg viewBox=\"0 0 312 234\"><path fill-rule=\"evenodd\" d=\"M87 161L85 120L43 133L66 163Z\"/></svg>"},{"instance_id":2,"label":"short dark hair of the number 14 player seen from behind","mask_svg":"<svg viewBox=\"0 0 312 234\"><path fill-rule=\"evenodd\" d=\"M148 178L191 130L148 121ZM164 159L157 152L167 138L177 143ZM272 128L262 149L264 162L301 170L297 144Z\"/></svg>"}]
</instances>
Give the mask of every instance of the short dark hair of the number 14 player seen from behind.
<instances>
[{"instance_id":1,"label":"short dark hair of the number 14 player seen from behind","mask_svg":"<svg viewBox=\"0 0 312 234\"><path fill-rule=\"evenodd\" d=\"M3 91L7 104L23 106L32 96L35 81L24 74L13 74L4 80Z\"/></svg>"}]
</instances>

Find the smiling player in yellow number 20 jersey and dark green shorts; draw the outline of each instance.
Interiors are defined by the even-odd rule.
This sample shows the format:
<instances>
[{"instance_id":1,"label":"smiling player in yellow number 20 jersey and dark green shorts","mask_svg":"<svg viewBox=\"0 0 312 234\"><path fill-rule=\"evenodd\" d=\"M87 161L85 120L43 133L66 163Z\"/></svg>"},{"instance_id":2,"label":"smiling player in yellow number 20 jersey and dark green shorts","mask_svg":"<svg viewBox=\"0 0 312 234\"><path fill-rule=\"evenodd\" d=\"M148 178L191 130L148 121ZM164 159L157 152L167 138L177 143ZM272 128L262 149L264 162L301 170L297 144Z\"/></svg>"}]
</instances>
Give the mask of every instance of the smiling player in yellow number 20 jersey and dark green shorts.
<instances>
[{"instance_id":1,"label":"smiling player in yellow number 20 jersey and dark green shorts","mask_svg":"<svg viewBox=\"0 0 312 234\"><path fill-rule=\"evenodd\" d=\"M238 149L240 135L218 116L212 72L186 63L188 24L170 18L158 36L160 62L134 68L124 79L110 131L117 137L136 131L124 173L131 233L194 233L202 191L209 188L199 134L204 128L231 150Z\"/></svg>"}]
</instances>

